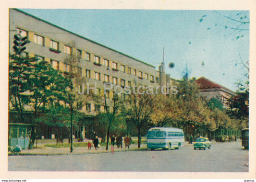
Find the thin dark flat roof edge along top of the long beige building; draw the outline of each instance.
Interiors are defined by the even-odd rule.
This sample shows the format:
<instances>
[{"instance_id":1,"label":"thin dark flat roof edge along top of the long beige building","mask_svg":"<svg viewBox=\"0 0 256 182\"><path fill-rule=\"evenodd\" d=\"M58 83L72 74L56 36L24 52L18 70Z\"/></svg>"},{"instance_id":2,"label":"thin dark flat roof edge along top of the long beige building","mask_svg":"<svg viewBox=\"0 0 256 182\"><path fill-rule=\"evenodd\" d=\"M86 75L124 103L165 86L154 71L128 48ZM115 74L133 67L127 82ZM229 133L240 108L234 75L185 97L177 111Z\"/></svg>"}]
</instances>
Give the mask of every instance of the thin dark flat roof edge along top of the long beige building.
<instances>
[{"instance_id":1,"label":"thin dark flat roof edge along top of the long beige building","mask_svg":"<svg viewBox=\"0 0 256 182\"><path fill-rule=\"evenodd\" d=\"M106 45L102 45L102 44L100 44L100 43L98 43L98 42L95 42L95 41L93 41L93 40L90 40L90 39L88 39L88 38L85 38L85 37L83 37L83 36L81 36L81 35L79 35L79 34L75 34L75 33L71 32L71 31L68 31L68 30L66 30L66 29L64 29L64 28L61 28L61 27L59 27L59 26L57 26L57 25L55 25L55 24L53 24L53 23L49 23L49 22L47 22L47 21L45 21L45 20L43 20L43 19L40 19L40 18L38 18L38 17L36 17L36 16L34 16L34 15L32 15L32 14L29 14L29 13L27 13L27 12L24 12L24 11L19 10L19 9L16 9L16 8L10 8L10 9L16 10L16 11L20 11L20 12L22 12L22 13L28 15L28 16L31 16L31 17L33 17L33 18L36 18L37 20L40 20L40 21L42 21L42 22L44 22L44 23L48 23L48 24L50 24L50 25L52 25L52 26L55 26L55 27L57 27L57 28L59 28L59 29L61 29L61 30L66 31L66 32L68 32L68 33L70 33L70 34L74 34L74 35L76 35L76 36L78 36L78 37L80 37L80 38L83 38L83 39L85 39L85 40L87 40L87 41L90 41L90 42L92 42L92 43L94 43L94 44L103 46L103 47L105 47L105 48L107 48L107 49L110 49L111 51L115 51L115 52L117 52L117 53L119 53L119 54L121 54L121 55L123 55L123 56L130 57L130 58L132 58L132 59L134 59L134 60L136 60L136 61L138 61L138 62L141 62L141 63L146 64L146 65L148 65L148 66L151 66L151 67L153 67L153 68L156 68L155 66L150 65L150 64L148 64L148 63L146 63L146 62L144 62L144 61L141 61L141 60L139 60L139 59L136 59L136 58L134 58L134 57L131 57L131 56L129 56L129 55L126 55L126 54L124 54L124 53L122 53L122 52L119 52L119 51L117 51L117 50L115 50L115 49L112 49L112 48L110 48L110 47L108 47L108 46L106 46Z\"/></svg>"}]
</instances>

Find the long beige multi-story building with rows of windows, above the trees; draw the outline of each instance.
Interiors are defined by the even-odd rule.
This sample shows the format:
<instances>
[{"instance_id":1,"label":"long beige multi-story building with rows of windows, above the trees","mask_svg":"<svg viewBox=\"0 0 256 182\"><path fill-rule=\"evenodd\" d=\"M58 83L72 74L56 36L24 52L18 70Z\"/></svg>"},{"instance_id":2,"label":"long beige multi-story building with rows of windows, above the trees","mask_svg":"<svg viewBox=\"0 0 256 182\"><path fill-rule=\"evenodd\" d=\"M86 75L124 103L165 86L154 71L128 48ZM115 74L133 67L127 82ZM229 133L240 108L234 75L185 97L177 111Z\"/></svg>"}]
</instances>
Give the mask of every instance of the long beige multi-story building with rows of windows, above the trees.
<instances>
[{"instance_id":1,"label":"long beige multi-story building with rows of windows, above the trees","mask_svg":"<svg viewBox=\"0 0 256 182\"><path fill-rule=\"evenodd\" d=\"M71 67L66 60L73 57L76 60L76 74L84 77L90 85L94 86L96 83L99 92L103 92L104 82L122 87L131 86L134 80L145 86L156 87L166 84L164 63L157 71L154 66L146 62L24 11L10 9L9 16L10 52L12 52L14 34L20 33L22 36L27 36L30 43L26 45L25 51L29 57L35 56L39 60L48 61L53 68L63 71L64 74L67 74ZM107 91L106 95L111 98L113 92ZM104 106L91 101L86 104L84 112L88 115L96 115L98 112L104 112ZM85 129L81 130L85 131Z\"/></svg>"}]
</instances>

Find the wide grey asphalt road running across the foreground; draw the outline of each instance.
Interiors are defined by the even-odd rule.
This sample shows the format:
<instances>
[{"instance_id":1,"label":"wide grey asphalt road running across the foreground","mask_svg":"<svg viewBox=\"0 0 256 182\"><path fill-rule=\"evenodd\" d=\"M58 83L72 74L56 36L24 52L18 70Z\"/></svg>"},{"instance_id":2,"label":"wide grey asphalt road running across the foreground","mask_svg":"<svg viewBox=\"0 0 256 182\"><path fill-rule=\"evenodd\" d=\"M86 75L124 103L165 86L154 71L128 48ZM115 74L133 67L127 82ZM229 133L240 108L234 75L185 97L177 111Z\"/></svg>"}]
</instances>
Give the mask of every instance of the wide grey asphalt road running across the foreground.
<instances>
[{"instance_id":1,"label":"wide grey asphalt road running across the foreground","mask_svg":"<svg viewBox=\"0 0 256 182\"><path fill-rule=\"evenodd\" d=\"M248 172L241 142L192 145L175 150L128 151L68 156L9 156L9 171L182 171Z\"/></svg>"}]
</instances>

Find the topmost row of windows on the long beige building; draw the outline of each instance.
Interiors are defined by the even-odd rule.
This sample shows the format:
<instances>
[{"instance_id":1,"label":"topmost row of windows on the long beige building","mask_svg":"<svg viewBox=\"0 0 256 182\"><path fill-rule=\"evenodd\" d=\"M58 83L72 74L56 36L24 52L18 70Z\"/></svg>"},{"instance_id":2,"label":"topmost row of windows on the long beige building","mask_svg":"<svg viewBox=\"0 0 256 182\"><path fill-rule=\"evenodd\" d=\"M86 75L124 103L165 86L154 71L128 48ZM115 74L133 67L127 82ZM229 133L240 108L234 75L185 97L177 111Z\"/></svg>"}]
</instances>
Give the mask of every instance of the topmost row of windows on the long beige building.
<instances>
[{"instance_id":1,"label":"topmost row of windows on the long beige building","mask_svg":"<svg viewBox=\"0 0 256 182\"><path fill-rule=\"evenodd\" d=\"M27 32L17 28L17 32L20 33L22 36L27 36ZM44 40L45 38L43 36L34 34L34 43L38 44L38 45L43 45L44 46ZM56 50L59 51L59 42L51 40L50 39L50 49L52 50ZM72 47L68 46L68 45L64 45L64 53L72 55ZM76 49L76 57L82 58L82 50ZM91 61L91 55L90 53L85 52L85 59L87 61ZM98 56L94 56L94 63L98 66L101 66L100 64L100 57ZM110 67L110 61L108 59L104 59L103 60L103 64L106 67ZM118 71L118 63L116 62L112 62L112 69ZM137 70L136 69L132 69L130 67L127 68L127 70L125 69L124 65L120 65L120 70L124 73L128 73L128 74L132 74L134 76L138 76L139 79L146 79L146 80L150 80L151 82L154 82L154 76L153 75L149 75L147 73L144 73L142 71L138 71L138 75L137 75ZM158 82L158 78L156 78L156 82Z\"/></svg>"}]
</instances>

